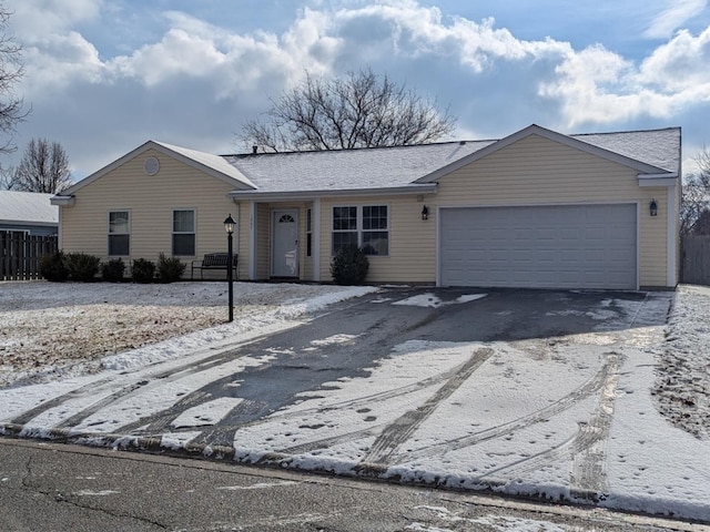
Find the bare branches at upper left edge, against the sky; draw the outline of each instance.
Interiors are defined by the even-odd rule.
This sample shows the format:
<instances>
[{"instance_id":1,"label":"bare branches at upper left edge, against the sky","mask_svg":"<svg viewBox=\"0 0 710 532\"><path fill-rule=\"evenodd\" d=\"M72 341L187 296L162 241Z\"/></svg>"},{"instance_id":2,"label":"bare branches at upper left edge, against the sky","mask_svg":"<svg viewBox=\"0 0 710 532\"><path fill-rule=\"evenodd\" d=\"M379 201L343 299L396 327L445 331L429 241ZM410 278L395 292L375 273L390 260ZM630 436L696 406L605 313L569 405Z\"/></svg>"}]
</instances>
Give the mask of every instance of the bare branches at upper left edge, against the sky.
<instances>
[{"instance_id":1,"label":"bare branches at upper left edge, against the sky","mask_svg":"<svg viewBox=\"0 0 710 532\"><path fill-rule=\"evenodd\" d=\"M14 151L14 127L28 114L23 109L23 100L14 92L24 69L20 62L22 47L6 32L11 14L4 4L0 3L0 153Z\"/></svg>"}]
</instances>

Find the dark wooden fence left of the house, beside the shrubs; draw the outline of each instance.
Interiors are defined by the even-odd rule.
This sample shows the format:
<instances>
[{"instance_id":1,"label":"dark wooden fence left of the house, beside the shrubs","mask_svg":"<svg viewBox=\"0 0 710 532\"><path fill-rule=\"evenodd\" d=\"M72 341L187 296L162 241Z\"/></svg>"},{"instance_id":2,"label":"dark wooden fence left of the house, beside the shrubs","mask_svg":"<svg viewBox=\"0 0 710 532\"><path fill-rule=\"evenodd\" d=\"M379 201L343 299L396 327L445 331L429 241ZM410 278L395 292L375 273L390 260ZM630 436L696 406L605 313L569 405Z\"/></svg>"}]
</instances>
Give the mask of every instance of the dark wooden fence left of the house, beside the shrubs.
<instances>
[{"instance_id":1,"label":"dark wooden fence left of the house, beside the shrubs","mask_svg":"<svg viewBox=\"0 0 710 532\"><path fill-rule=\"evenodd\" d=\"M57 236L0 231L0 280L39 279L40 258L57 252Z\"/></svg>"}]
</instances>

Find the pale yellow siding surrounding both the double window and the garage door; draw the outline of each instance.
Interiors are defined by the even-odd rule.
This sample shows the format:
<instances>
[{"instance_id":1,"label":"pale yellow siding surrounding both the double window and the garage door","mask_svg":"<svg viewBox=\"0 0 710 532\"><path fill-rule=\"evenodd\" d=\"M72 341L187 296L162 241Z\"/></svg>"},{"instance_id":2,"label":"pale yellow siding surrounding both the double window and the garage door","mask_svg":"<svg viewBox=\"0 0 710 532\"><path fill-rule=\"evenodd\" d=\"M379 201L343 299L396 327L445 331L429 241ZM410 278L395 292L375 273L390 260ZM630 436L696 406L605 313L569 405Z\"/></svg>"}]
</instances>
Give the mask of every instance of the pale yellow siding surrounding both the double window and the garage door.
<instances>
[{"instance_id":1,"label":"pale yellow siding surrounding both the double window and the garage door","mask_svg":"<svg viewBox=\"0 0 710 532\"><path fill-rule=\"evenodd\" d=\"M666 286L666 214L649 215L655 198L666 208L667 188L639 187L638 172L592 154L528 136L439 180L437 194L327 198L321 208L321 275L329 280L334 206L388 205L389 256L369 257L368 283L434 283L438 206L513 206L633 203L639 212L641 286ZM429 219L422 221L422 207Z\"/></svg>"}]
</instances>

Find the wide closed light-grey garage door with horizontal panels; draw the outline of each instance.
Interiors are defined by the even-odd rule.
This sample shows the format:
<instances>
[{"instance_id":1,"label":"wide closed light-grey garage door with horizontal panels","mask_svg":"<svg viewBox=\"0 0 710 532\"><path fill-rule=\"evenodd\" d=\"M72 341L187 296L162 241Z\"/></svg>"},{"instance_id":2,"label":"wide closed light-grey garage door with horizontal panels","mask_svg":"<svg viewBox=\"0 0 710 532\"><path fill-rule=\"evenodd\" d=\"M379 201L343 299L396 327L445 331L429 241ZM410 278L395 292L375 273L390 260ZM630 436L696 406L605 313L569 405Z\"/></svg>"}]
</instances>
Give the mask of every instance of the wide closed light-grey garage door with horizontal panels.
<instances>
[{"instance_id":1,"label":"wide closed light-grey garage door with horizontal panels","mask_svg":"<svg viewBox=\"0 0 710 532\"><path fill-rule=\"evenodd\" d=\"M442 286L637 288L636 205L439 211Z\"/></svg>"}]
</instances>

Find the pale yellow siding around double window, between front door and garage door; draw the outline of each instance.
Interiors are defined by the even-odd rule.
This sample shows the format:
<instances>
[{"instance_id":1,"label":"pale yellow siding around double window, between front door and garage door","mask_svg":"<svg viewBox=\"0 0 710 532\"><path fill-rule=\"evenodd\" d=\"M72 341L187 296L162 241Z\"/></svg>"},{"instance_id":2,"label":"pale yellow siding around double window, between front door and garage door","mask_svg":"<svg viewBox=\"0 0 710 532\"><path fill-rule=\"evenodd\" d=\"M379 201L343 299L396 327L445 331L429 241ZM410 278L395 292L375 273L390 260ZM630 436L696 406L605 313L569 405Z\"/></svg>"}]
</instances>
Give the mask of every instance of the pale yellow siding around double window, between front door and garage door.
<instances>
[{"instance_id":1,"label":"pale yellow siding around double window, between front door and garage door","mask_svg":"<svg viewBox=\"0 0 710 532\"><path fill-rule=\"evenodd\" d=\"M321 203L321 278L332 280L333 207L387 205L389 215L389 255L369 256L367 283L434 283L436 267L436 222L422 219L422 207L416 196L361 196L327 198ZM430 208L430 207L429 207ZM314 221L315 222L315 221Z\"/></svg>"}]
</instances>

